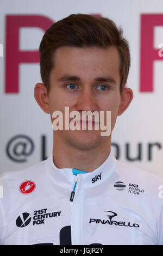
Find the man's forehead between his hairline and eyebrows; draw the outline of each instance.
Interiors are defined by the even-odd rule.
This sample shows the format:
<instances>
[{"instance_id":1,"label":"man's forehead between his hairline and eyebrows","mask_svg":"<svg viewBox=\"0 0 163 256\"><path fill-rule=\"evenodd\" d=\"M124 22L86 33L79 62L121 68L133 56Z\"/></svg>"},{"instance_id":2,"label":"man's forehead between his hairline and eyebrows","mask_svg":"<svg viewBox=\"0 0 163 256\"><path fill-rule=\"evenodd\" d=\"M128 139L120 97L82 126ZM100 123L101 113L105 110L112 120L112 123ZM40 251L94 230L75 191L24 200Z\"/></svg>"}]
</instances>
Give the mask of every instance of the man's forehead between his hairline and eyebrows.
<instances>
[{"instance_id":1,"label":"man's forehead between his hairline and eyebrows","mask_svg":"<svg viewBox=\"0 0 163 256\"><path fill-rule=\"evenodd\" d=\"M108 74L120 78L120 56L115 46L108 48L62 46L54 52L53 63L52 77L68 72L85 77Z\"/></svg>"}]
</instances>

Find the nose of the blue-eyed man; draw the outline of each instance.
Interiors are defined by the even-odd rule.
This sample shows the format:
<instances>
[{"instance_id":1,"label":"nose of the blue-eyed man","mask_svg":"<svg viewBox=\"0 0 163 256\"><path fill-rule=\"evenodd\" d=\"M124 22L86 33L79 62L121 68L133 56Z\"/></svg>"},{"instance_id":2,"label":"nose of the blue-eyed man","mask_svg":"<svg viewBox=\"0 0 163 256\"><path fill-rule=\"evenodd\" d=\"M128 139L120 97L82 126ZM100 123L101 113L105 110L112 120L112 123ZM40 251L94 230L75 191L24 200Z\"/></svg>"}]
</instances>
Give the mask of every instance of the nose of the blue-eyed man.
<instances>
[{"instance_id":1,"label":"nose of the blue-eyed man","mask_svg":"<svg viewBox=\"0 0 163 256\"><path fill-rule=\"evenodd\" d=\"M78 95L77 111L93 112L97 110L98 105L96 95L89 88L83 89Z\"/></svg>"}]
</instances>

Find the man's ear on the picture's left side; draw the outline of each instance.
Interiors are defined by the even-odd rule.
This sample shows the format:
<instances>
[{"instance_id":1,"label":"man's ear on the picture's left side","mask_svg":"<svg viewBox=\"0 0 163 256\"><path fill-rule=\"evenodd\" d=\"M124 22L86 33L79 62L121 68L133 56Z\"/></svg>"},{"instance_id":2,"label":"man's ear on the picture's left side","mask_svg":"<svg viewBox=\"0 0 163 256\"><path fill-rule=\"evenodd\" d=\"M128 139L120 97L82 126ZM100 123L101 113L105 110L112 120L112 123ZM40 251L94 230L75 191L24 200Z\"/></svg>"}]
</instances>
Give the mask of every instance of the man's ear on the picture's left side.
<instances>
[{"instance_id":1,"label":"man's ear on the picture's left side","mask_svg":"<svg viewBox=\"0 0 163 256\"><path fill-rule=\"evenodd\" d=\"M47 88L43 83L36 83L34 88L34 97L39 106L42 108L42 110L49 114L49 101L48 101L48 95L47 95Z\"/></svg>"}]
</instances>

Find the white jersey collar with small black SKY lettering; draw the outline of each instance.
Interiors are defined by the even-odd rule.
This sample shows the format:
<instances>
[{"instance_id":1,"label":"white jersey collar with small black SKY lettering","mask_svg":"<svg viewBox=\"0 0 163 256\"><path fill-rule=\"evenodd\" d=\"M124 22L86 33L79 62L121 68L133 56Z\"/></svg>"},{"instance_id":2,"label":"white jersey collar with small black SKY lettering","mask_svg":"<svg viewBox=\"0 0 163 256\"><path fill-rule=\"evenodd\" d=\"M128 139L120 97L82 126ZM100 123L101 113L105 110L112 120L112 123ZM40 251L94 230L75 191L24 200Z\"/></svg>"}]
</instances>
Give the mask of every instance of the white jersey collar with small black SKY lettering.
<instances>
[{"instance_id":1,"label":"white jersey collar with small black SKY lettering","mask_svg":"<svg viewBox=\"0 0 163 256\"><path fill-rule=\"evenodd\" d=\"M108 179L116 168L117 160L110 152L108 158L97 169L90 173L73 174L73 168L57 168L53 162L53 151L45 160L45 168L50 178L59 186L70 188L74 183L77 176L78 181L84 187L93 187L101 184Z\"/></svg>"}]
</instances>

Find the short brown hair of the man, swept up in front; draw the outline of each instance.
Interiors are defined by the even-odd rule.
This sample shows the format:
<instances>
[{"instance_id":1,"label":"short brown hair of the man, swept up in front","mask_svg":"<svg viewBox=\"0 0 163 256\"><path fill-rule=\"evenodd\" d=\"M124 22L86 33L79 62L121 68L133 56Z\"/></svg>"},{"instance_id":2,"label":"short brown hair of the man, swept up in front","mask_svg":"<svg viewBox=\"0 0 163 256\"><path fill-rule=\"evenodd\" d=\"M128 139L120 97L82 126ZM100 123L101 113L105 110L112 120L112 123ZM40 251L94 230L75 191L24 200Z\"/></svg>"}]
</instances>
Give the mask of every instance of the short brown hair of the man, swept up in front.
<instances>
[{"instance_id":1,"label":"short brown hair of the man, swept up in front","mask_svg":"<svg viewBox=\"0 0 163 256\"><path fill-rule=\"evenodd\" d=\"M55 22L43 35L40 43L40 74L43 84L50 90L49 76L54 67L53 53L58 47L107 48L115 46L120 55L120 92L127 82L130 68L128 41L123 38L123 30L114 21L87 14L71 14Z\"/></svg>"}]
</instances>

